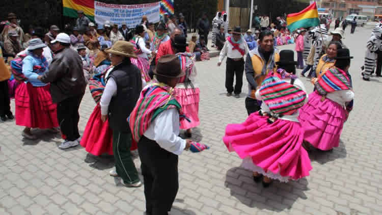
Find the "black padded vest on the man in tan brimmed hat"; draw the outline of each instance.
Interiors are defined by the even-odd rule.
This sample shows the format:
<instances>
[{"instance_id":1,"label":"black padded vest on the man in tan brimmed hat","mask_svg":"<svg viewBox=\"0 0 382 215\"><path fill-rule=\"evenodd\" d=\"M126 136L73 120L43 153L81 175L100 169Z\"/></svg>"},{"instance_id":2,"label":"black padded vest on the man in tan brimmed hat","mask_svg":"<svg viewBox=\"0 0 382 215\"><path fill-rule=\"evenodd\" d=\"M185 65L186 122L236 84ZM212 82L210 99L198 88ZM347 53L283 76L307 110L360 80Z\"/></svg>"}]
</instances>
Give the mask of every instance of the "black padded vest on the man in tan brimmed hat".
<instances>
[{"instance_id":1,"label":"black padded vest on the man in tan brimmed hat","mask_svg":"<svg viewBox=\"0 0 382 215\"><path fill-rule=\"evenodd\" d=\"M108 107L109 125L114 131L131 132L127 118L137 103L142 90L141 70L127 62L122 62L108 75L117 84L117 94Z\"/></svg>"}]
</instances>

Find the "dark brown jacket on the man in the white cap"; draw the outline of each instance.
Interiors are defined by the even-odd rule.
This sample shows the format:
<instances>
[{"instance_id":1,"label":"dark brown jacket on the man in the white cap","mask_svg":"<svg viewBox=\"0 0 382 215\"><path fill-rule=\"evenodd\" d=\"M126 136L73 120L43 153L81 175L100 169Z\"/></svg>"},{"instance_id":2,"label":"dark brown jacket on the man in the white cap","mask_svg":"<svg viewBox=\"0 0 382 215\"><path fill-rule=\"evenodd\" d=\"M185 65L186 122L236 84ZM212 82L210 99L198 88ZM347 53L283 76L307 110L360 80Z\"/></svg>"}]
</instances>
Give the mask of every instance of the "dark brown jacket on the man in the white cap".
<instances>
[{"instance_id":1,"label":"dark brown jacket on the man in the white cap","mask_svg":"<svg viewBox=\"0 0 382 215\"><path fill-rule=\"evenodd\" d=\"M56 53L41 82L50 83L50 94L55 103L84 94L86 82L78 53L71 48Z\"/></svg>"}]
</instances>

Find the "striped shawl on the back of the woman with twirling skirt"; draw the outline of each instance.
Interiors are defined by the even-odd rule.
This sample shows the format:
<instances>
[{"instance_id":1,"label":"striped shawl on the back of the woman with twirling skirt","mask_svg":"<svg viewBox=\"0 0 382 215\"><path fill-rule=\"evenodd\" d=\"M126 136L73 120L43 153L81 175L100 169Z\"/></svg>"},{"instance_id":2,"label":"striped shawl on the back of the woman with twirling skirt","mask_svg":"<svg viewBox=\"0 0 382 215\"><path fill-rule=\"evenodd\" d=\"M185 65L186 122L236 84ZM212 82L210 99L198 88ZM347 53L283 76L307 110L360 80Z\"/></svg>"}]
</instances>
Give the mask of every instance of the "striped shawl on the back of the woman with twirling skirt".
<instances>
[{"instance_id":1,"label":"striped shawl on the back of the woman with twirling skirt","mask_svg":"<svg viewBox=\"0 0 382 215\"><path fill-rule=\"evenodd\" d=\"M283 78L287 77L294 79L285 70L278 69L277 73L268 73L267 78L261 84L260 96L269 106L271 114L293 115L304 104L307 94L291 83L285 82Z\"/></svg>"}]
</instances>

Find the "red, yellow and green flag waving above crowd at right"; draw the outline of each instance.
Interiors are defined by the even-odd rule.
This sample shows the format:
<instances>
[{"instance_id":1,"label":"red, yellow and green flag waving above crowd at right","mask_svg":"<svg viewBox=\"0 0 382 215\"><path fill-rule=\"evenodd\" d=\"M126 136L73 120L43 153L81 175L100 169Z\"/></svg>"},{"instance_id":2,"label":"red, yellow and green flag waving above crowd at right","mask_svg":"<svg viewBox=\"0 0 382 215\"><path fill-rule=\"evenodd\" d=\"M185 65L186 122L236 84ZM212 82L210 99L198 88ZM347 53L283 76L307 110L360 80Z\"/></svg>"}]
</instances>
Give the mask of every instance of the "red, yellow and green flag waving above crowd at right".
<instances>
[{"instance_id":1,"label":"red, yellow and green flag waving above crowd at right","mask_svg":"<svg viewBox=\"0 0 382 215\"><path fill-rule=\"evenodd\" d=\"M298 13L291 13L287 16L287 28L290 32L299 28L309 28L319 25L318 10L316 2Z\"/></svg>"}]
</instances>

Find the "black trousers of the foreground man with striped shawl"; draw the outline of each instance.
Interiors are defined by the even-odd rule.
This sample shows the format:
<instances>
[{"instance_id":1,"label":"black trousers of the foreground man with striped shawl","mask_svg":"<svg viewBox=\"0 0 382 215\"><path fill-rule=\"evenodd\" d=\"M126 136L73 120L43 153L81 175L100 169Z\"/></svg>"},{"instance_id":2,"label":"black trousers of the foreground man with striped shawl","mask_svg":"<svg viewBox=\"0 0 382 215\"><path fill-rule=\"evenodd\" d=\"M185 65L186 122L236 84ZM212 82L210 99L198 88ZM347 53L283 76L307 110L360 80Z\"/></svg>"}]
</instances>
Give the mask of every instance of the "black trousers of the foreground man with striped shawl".
<instances>
[{"instance_id":1,"label":"black trousers of the foreground man with striped shawl","mask_svg":"<svg viewBox=\"0 0 382 215\"><path fill-rule=\"evenodd\" d=\"M179 189L178 155L142 136L138 142L145 185L146 212L168 215Z\"/></svg>"}]
</instances>

